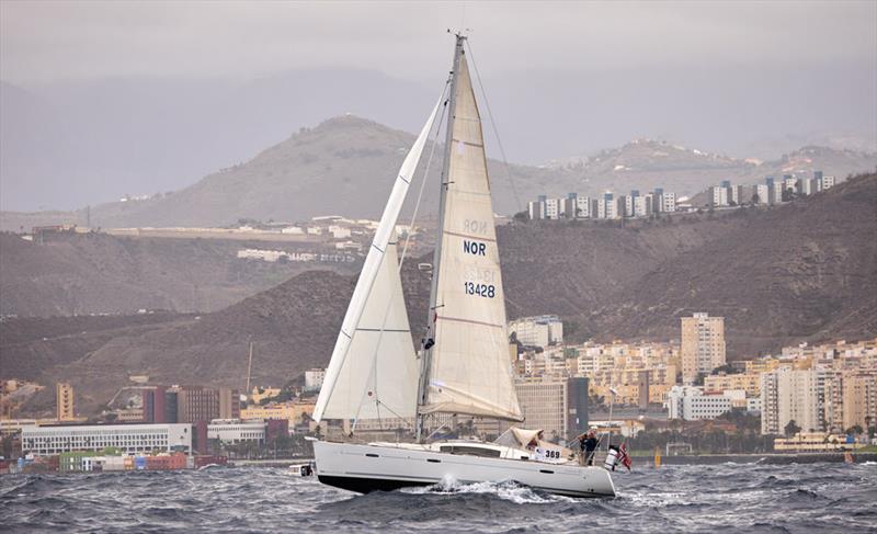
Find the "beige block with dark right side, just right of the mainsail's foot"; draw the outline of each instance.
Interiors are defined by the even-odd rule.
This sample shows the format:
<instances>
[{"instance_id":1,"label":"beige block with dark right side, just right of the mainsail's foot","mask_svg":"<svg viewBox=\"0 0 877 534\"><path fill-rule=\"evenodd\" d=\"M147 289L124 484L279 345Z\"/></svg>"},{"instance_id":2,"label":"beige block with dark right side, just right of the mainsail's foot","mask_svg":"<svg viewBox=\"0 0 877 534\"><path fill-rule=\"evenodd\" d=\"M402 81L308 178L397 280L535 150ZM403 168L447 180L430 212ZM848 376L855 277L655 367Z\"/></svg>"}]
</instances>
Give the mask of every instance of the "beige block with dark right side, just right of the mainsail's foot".
<instances>
[{"instance_id":1,"label":"beige block with dark right side, just right of the mainsail's foot","mask_svg":"<svg viewBox=\"0 0 877 534\"><path fill-rule=\"evenodd\" d=\"M588 429L588 378L519 378L517 401L528 429L570 441Z\"/></svg>"}]
</instances>

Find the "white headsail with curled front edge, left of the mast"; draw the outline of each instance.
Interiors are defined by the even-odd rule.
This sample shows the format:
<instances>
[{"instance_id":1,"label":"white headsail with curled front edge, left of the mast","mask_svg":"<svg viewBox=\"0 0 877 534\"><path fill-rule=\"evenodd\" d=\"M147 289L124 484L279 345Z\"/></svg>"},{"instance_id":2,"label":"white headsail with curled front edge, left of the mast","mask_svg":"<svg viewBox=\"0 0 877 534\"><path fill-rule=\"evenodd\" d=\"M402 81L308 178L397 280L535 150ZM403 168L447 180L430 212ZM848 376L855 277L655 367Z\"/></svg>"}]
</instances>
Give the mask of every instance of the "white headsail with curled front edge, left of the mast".
<instances>
[{"instance_id":1,"label":"white headsail with curled front edge, left of the mast","mask_svg":"<svg viewBox=\"0 0 877 534\"><path fill-rule=\"evenodd\" d=\"M315 421L352 419L357 413L365 417L372 413L368 410L376 412L381 405L395 411L394 416L413 416L417 361L401 297L396 248L390 238L441 104L440 99L406 156L384 208L326 370L314 409ZM375 363L379 365L379 373L371 368ZM377 375L381 376L376 378ZM391 385L381 388L379 402L369 401L368 387L375 384ZM392 386L399 390L390 391ZM374 397L376 391L373 389L372 394Z\"/></svg>"}]
</instances>

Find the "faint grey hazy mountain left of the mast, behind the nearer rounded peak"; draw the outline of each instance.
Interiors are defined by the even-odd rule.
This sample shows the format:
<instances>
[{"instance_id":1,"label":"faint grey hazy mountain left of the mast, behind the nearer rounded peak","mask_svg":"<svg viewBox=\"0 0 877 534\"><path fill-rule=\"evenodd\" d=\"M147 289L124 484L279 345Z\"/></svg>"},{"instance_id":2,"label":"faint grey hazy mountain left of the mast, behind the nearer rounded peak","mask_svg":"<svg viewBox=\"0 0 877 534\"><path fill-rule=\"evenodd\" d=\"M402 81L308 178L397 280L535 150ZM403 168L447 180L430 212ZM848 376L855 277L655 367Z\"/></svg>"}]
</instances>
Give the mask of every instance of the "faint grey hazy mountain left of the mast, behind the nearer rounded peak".
<instances>
[{"instance_id":1,"label":"faint grey hazy mountain left of the mast, behind the nearer rounded peak","mask_svg":"<svg viewBox=\"0 0 877 534\"><path fill-rule=\"evenodd\" d=\"M348 112L414 129L435 98L381 72L332 68L244 81L112 78L26 89L2 82L0 96L4 211L175 191Z\"/></svg>"}]
</instances>

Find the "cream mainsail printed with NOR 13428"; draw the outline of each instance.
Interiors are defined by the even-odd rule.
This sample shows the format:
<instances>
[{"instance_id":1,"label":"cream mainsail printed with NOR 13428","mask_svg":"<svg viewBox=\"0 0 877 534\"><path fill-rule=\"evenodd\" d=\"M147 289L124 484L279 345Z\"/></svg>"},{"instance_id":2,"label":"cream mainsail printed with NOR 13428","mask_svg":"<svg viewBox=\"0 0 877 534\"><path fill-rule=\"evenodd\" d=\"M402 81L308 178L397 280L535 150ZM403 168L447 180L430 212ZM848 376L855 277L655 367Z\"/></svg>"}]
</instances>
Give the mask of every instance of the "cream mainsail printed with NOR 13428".
<instances>
[{"instance_id":1,"label":"cream mainsail printed with NOR 13428","mask_svg":"<svg viewBox=\"0 0 877 534\"><path fill-rule=\"evenodd\" d=\"M420 412L520 421L481 117L463 53L457 70L431 329L435 344Z\"/></svg>"}]
</instances>

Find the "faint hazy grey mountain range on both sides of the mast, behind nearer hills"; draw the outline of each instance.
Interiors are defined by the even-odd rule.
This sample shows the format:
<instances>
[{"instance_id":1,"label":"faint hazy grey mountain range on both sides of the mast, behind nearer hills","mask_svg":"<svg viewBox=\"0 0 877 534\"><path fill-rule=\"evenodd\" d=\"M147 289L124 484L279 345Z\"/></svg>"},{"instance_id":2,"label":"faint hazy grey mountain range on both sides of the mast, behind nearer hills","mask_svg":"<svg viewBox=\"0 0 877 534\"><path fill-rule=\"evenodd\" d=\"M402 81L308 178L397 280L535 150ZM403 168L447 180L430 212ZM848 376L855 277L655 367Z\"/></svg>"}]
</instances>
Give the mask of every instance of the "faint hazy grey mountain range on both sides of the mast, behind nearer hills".
<instances>
[{"instance_id":1,"label":"faint hazy grey mountain range on both sides of the mast, behind nearer hills","mask_svg":"<svg viewBox=\"0 0 877 534\"><path fill-rule=\"evenodd\" d=\"M508 71L491 70L493 61L479 65L512 161L593 155L631 136L763 160L806 145L877 149L877 79L861 59L835 58L820 68L722 60L696 69L667 61L596 64L583 59L561 70L527 63ZM349 112L415 132L447 66L398 65L384 64L390 75L324 67L250 79L130 76L26 86L5 80L0 209L71 211L178 191L303 126ZM412 81L419 72L430 75ZM488 154L497 158L487 114L485 120Z\"/></svg>"}]
</instances>

